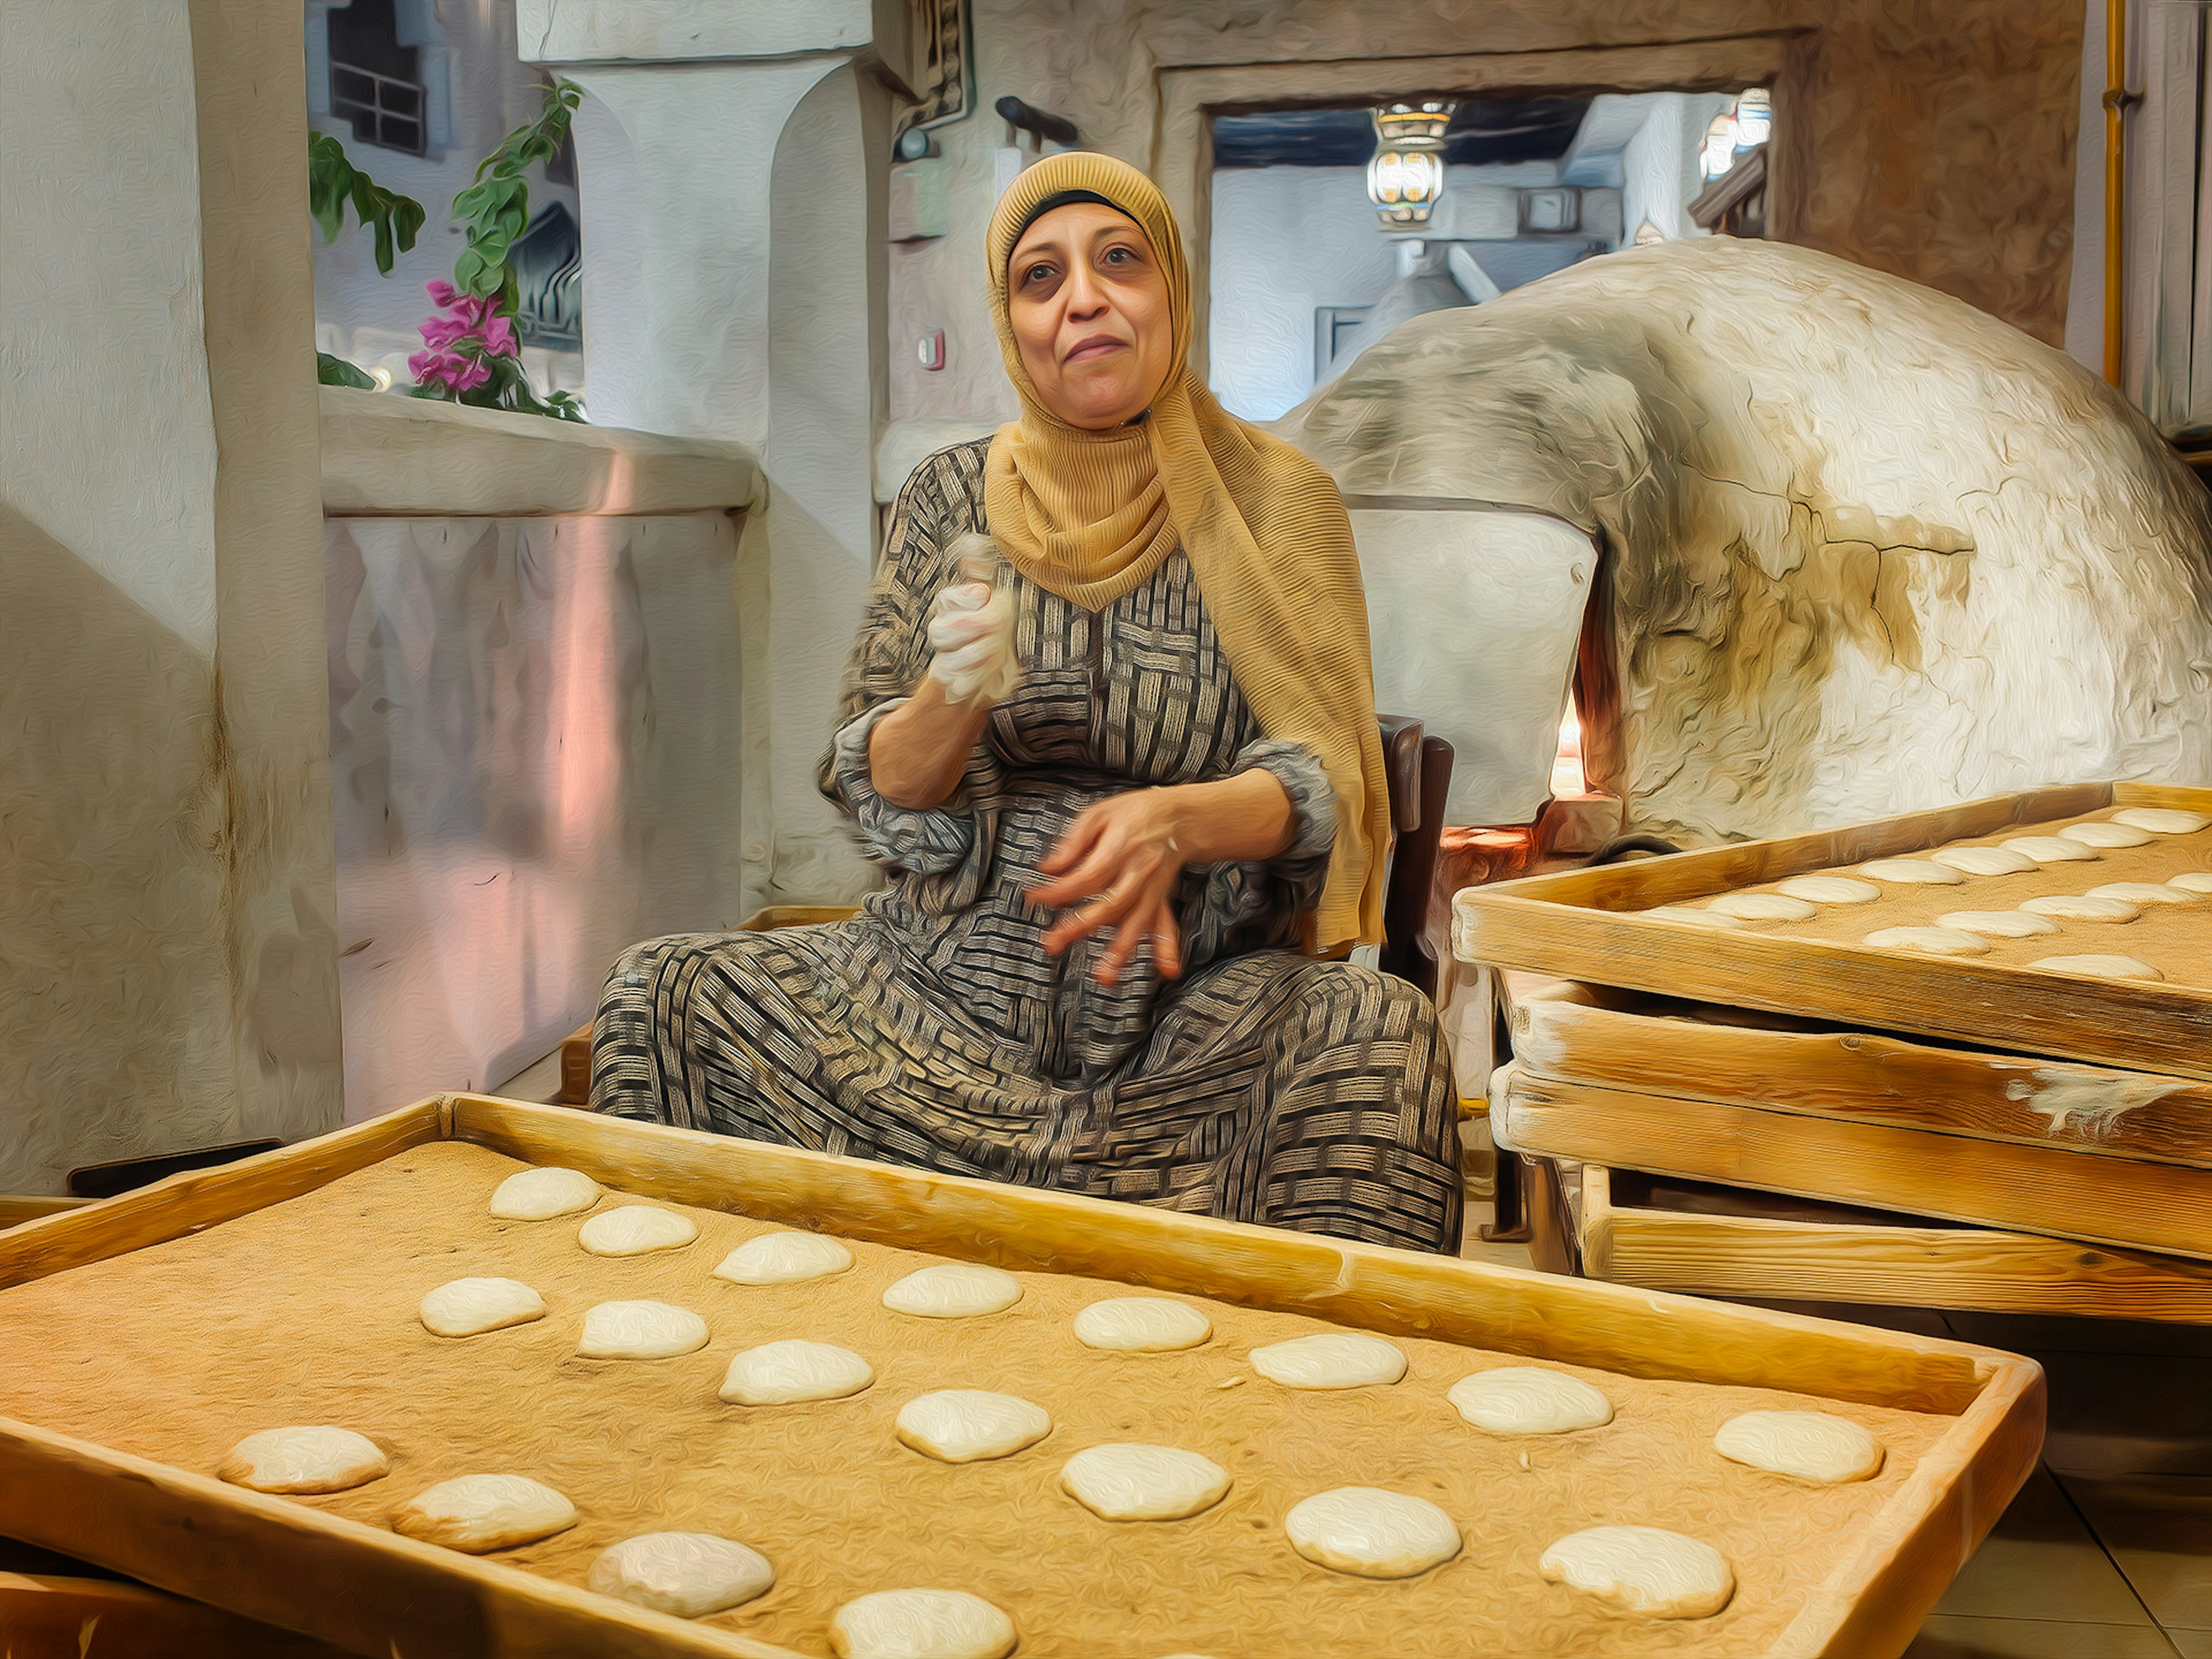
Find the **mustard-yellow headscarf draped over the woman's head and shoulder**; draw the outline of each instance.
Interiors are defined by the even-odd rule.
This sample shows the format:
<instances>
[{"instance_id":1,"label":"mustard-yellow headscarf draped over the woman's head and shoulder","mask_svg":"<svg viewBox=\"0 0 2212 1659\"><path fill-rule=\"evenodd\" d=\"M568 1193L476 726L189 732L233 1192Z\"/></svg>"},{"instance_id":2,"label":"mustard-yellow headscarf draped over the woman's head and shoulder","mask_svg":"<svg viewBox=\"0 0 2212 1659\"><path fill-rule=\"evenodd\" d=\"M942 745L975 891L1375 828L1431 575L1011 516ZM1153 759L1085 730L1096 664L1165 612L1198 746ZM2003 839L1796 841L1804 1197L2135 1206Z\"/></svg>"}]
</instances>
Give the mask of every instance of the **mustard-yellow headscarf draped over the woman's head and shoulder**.
<instances>
[{"instance_id":1,"label":"mustard-yellow headscarf draped over the woman's head and shoulder","mask_svg":"<svg viewBox=\"0 0 2212 1659\"><path fill-rule=\"evenodd\" d=\"M1128 215L1168 279L1168 378L1148 418L1086 431L1029 378L1006 316L1006 261L1040 204L1084 190ZM1177 546L1206 595L1237 688L1267 737L1312 750L1336 794L1336 849L1314 916L1321 951L1383 938L1389 790L1367 659L1367 593L1352 520L1316 462L1237 420L1188 367L1190 268L1159 188L1088 150L1046 157L998 201L987 243L991 316L1022 418L998 429L984 513L1000 553L1037 586L1099 611Z\"/></svg>"}]
</instances>

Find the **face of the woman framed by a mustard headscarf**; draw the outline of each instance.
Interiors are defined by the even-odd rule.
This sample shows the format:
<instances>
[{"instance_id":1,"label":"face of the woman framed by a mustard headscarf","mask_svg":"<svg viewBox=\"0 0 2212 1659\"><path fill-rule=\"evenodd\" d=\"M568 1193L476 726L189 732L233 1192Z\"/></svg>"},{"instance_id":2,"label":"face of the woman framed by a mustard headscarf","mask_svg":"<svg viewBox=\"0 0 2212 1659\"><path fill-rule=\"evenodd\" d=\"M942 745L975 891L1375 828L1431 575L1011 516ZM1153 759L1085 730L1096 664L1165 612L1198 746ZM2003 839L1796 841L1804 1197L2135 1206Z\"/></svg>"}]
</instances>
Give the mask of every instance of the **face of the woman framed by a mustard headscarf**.
<instances>
[{"instance_id":1,"label":"face of the woman framed by a mustard headscarf","mask_svg":"<svg viewBox=\"0 0 2212 1659\"><path fill-rule=\"evenodd\" d=\"M1037 398L1071 427L1135 420L1168 378L1168 276L1137 223L1099 201L1053 208L1022 232L1006 319Z\"/></svg>"}]
</instances>

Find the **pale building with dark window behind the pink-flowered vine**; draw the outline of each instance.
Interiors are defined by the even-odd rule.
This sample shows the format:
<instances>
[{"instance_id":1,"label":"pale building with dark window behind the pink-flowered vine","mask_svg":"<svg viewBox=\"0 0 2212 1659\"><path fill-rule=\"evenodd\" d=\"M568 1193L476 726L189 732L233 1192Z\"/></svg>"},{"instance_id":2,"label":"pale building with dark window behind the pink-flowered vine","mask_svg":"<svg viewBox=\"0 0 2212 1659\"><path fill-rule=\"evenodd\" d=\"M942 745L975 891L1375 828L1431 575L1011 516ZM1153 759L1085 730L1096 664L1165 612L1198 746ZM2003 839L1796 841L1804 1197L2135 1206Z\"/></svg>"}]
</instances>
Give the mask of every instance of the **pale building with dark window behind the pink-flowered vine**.
<instances>
[{"instance_id":1,"label":"pale building with dark window behind the pink-flowered vine","mask_svg":"<svg viewBox=\"0 0 2212 1659\"><path fill-rule=\"evenodd\" d=\"M451 281L462 248L453 197L500 139L538 117L546 75L515 55L513 0L307 0L305 31L307 126L425 210L414 250L389 276L352 212L336 243L314 232L314 343L405 392L407 358L422 349L418 330L434 310L422 288ZM544 173L529 173L538 239L520 261L529 265L522 361L542 392L584 392L575 164L564 157L555 177Z\"/></svg>"}]
</instances>

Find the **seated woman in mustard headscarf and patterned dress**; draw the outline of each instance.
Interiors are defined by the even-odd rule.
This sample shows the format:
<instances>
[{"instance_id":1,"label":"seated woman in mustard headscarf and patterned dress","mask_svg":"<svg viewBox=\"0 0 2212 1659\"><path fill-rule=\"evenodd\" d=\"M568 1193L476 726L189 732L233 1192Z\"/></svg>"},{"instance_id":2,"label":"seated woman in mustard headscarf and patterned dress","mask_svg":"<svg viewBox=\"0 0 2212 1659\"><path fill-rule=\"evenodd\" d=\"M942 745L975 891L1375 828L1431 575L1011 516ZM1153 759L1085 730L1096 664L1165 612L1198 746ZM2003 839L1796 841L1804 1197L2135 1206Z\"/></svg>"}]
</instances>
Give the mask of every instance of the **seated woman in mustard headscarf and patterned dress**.
<instances>
[{"instance_id":1,"label":"seated woman in mustard headscarf and patterned dress","mask_svg":"<svg viewBox=\"0 0 2212 1659\"><path fill-rule=\"evenodd\" d=\"M889 885L628 951L593 1108L1455 1250L1436 1013L1318 956L1389 836L1343 502L1183 367L1135 168L1029 168L989 268L1022 418L900 493L821 765Z\"/></svg>"}]
</instances>

